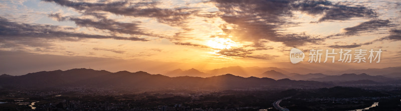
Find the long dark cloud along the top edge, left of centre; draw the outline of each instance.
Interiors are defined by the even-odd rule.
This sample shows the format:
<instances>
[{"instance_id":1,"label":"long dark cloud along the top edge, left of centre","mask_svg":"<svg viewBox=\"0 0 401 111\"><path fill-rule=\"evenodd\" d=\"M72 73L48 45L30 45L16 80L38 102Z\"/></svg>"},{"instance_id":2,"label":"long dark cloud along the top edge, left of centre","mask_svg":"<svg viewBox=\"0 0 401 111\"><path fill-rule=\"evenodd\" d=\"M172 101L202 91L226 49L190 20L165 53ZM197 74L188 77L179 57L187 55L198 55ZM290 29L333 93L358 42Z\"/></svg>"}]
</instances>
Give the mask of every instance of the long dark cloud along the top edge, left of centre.
<instances>
[{"instance_id":1,"label":"long dark cloud along the top edge, left of centre","mask_svg":"<svg viewBox=\"0 0 401 111\"><path fill-rule=\"evenodd\" d=\"M134 17L152 17L159 22L170 25L182 25L184 19L190 13L196 12L189 8L165 9L158 8L155 5L156 1L131 3L128 1L115 2L80 2L70 0L43 0L47 2L55 2L62 6L72 7L77 10L91 13L95 11L107 11L118 15L134 16Z\"/></svg>"}]
</instances>

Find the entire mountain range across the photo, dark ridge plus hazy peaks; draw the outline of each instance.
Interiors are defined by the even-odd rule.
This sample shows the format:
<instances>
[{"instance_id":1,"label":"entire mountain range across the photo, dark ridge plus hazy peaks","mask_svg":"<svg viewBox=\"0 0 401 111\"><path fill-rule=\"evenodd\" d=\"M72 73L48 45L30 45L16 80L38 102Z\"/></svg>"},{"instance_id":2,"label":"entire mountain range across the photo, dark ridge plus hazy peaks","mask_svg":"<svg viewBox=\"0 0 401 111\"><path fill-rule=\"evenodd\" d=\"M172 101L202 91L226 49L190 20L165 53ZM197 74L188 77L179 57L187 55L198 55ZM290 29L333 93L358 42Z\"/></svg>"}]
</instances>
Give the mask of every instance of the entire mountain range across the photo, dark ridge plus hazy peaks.
<instances>
[{"instance_id":1,"label":"entire mountain range across the photo, dark ridge plus hazy peaks","mask_svg":"<svg viewBox=\"0 0 401 111\"><path fill-rule=\"evenodd\" d=\"M95 87L126 87L134 89L236 89L236 88L293 88L293 87L327 87L338 84L400 84L399 73L385 75L369 75L366 73L345 73L341 75L326 75L323 73L289 73L277 67L252 67L255 76L243 77L235 74L209 74L197 69L176 69L162 74L150 74L144 71L110 72L86 68L69 70L39 71L25 75L0 75L0 88L8 86L19 87L60 87L60 86L95 86ZM235 71L251 72L249 67L227 67L208 72ZM264 69L267 71L260 72ZM287 73L282 73L277 70ZM260 72L260 73L257 73ZM188 76L189 75L189 76Z\"/></svg>"}]
</instances>

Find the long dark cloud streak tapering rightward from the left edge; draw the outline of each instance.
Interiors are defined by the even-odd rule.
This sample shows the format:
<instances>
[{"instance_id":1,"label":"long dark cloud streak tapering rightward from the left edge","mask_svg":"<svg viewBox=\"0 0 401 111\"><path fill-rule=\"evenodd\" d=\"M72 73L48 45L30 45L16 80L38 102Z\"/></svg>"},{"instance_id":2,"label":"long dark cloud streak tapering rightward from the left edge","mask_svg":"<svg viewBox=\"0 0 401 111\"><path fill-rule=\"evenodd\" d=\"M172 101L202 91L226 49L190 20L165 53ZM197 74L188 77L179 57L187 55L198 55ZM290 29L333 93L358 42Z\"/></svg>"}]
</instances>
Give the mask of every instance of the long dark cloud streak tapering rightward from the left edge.
<instances>
[{"instance_id":1,"label":"long dark cloud streak tapering rightward from the left edge","mask_svg":"<svg viewBox=\"0 0 401 111\"><path fill-rule=\"evenodd\" d=\"M86 34L70 32L71 28L63 28L56 25L27 24L9 21L0 17L0 38L1 39L25 39L25 38L54 38L62 40L79 40L83 38L112 38L120 40L147 41L145 38L121 37Z\"/></svg>"}]
</instances>

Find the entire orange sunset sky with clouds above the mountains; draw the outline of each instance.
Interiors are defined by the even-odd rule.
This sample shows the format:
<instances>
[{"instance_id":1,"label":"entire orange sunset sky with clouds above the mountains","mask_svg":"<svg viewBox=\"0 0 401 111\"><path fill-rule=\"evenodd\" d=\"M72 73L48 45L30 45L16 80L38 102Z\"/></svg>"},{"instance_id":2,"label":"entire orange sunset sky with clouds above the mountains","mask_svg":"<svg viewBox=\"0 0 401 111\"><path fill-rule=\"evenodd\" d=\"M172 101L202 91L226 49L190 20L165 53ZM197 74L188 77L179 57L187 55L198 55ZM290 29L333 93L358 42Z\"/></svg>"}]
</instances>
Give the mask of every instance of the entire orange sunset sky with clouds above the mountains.
<instances>
[{"instance_id":1,"label":"entire orange sunset sky with clouds above the mountains","mask_svg":"<svg viewBox=\"0 0 401 111\"><path fill-rule=\"evenodd\" d=\"M400 22L399 0L0 0L0 73L401 66ZM318 63L312 49L382 52Z\"/></svg>"}]
</instances>

